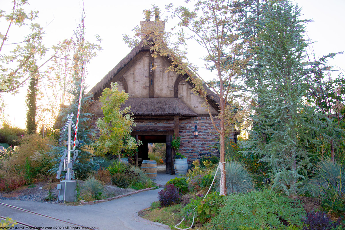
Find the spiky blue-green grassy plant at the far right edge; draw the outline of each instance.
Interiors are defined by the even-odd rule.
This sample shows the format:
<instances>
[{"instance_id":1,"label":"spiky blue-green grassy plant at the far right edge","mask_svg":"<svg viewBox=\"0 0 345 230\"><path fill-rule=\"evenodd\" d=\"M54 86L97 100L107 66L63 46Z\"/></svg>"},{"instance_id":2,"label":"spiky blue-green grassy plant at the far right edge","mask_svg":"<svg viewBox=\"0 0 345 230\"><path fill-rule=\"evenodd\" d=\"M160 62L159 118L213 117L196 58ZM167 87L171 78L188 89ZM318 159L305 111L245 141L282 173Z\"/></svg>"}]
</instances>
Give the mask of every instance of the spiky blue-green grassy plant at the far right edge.
<instances>
[{"instance_id":1,"label":"spiky blue-green grassy plant at the far right edge","mask_svg":"<svg viewBox=\"0 0 345 230\"><path fill-rule=\"evenodd\" d=\"M335 190L340 197L345 195L345 167L331 159L321 160L316 168L316 175L311 177L309 184L318 188Z\"/></svg>"}]
</instances>

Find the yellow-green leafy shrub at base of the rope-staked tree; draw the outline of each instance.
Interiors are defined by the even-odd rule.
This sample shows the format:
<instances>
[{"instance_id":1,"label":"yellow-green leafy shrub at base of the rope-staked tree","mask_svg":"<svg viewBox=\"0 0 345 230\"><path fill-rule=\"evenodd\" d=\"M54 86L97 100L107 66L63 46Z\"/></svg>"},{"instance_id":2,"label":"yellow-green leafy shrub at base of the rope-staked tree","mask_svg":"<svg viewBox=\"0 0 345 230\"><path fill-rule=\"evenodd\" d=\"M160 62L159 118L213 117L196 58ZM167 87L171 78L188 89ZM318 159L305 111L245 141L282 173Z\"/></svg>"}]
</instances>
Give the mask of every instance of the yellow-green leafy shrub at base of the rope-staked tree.
<instances>
[{"instance_id":1,"label":"yellow-green leafy shrub at base of the rope-staked tree","mask_svg":"<svg viewBox=\"0 0 345 230\"><path fill-rule=\"evenodd\" d=\"M200 223L205 223L211 217L216 217L218 215L218 209L223 205L223 201L224 195L219 196L219 192L208 194L205 200L200 201L198 205L197 220Z\"/></svg>"}]
</instances>

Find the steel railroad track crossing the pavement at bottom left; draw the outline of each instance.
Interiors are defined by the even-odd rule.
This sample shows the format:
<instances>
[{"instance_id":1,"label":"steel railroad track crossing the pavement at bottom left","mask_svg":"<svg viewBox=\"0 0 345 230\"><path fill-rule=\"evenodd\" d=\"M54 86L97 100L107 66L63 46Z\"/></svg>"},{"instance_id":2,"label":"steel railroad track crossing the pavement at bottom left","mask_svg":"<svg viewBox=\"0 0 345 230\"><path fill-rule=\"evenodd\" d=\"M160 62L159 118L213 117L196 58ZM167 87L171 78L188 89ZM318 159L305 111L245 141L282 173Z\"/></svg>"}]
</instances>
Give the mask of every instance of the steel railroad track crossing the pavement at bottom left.
<instances>
[{"instance_id":1,"label":"steel railroad track crossing the pavement at bottom left","mask_svg":"<svg viewBox=\"0 0 345 230\"><path fill-rule=\"evenodd\" d=\"M27 213L31 213L31 214L34 214L34 215L37 215L37 216L41 216L41 217L44 217L44 218L49 218L49 219L55 220L57 222L61 222L61 223L72 225L73 227L79 227L79 228L72 228L72 226L66 226L68 228L65 228L65 227L56 226L56 227L39 228L39 227L36 227L36 226L31 226L30 224L27 224L27 223L23 223L23 222L17 221L18 224L20 224L22 226L25 226L25 227L29 227L30 229L37 229L37 230L46 230L46 229L52 229L52 230L53 229L55 229L55 230L61 230L61 229L93 229L93 230L95 230L95 228L86 227L86 226L83 226L81 224L73 223L73 222L66 221L66 220L60 220L60 219L55 218L55 217L50 217L50 216L47 216L45 214L33 212L33 211L30 211L30 210L27 210L27 209L23 209L23 208L19 208L19 207L16 207L16 206L12 206L10 204L5 204L5 203L1 203L0 202L0 206L7 207L7 208L10 208L10 209L20 210L20 211L27 212ZM6 217L0 216L0 219L6 219Z\"/></svg>"}]
</instances>

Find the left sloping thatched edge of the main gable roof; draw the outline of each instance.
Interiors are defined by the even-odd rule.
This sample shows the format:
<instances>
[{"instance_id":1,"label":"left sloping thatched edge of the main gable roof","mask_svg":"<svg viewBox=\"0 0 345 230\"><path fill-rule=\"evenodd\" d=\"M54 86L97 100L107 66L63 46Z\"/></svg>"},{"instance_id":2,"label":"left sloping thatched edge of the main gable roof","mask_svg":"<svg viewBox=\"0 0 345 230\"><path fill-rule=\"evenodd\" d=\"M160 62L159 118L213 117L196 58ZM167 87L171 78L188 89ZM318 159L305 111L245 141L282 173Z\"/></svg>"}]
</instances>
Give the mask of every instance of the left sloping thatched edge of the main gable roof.
<instances>
[{"instance_id":1,"label":"left sloping thatched edge of the main gable roof","mask_svg":"<svg viewBox=\"0 0 345 230\"><path fill-rule=\"evenodd\" d=\"M100 82L96 84L96 86L90 90L90 93L96 95L97 93L102 92L105 85L108 84L111 79L114 78L116 74L120 72L120 70L124 68L128 62L130 62L143 48L142 41L140 41L139 44L134 47L124 59L122 59L112 70L107 73L106 76L102 78Z\"/></svg>"}]
</instances>

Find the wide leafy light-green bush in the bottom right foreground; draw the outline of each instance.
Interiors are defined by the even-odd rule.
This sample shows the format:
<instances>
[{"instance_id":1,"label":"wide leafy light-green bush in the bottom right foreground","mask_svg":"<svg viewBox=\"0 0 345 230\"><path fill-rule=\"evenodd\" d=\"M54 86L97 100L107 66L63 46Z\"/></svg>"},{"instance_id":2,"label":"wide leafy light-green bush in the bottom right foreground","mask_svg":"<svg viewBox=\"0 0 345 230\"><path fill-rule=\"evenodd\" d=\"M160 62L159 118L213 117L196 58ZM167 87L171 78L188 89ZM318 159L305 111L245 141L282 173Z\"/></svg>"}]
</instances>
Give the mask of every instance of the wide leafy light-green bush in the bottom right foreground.
<instances>
[{"instance_id":1,"label":"wide leafy light-green bush in the bottom right foreground","mask_svg":"<svg viewBox=\"0 0 345 230\"><path fill-rule=\"evenodd\" d=\"M242 230L291 229L288 225L302 227L306 216L299 200L264 189L249 193L232 193L227 196L225 205L216 218L212 218L208 229ZM231 220L231 221L229 221ZM284 225L283 223L287 224ZM239 228L239 226L242 226ZM244 228L246 227L246 228Z\"/></svg>"}]
</instances>

